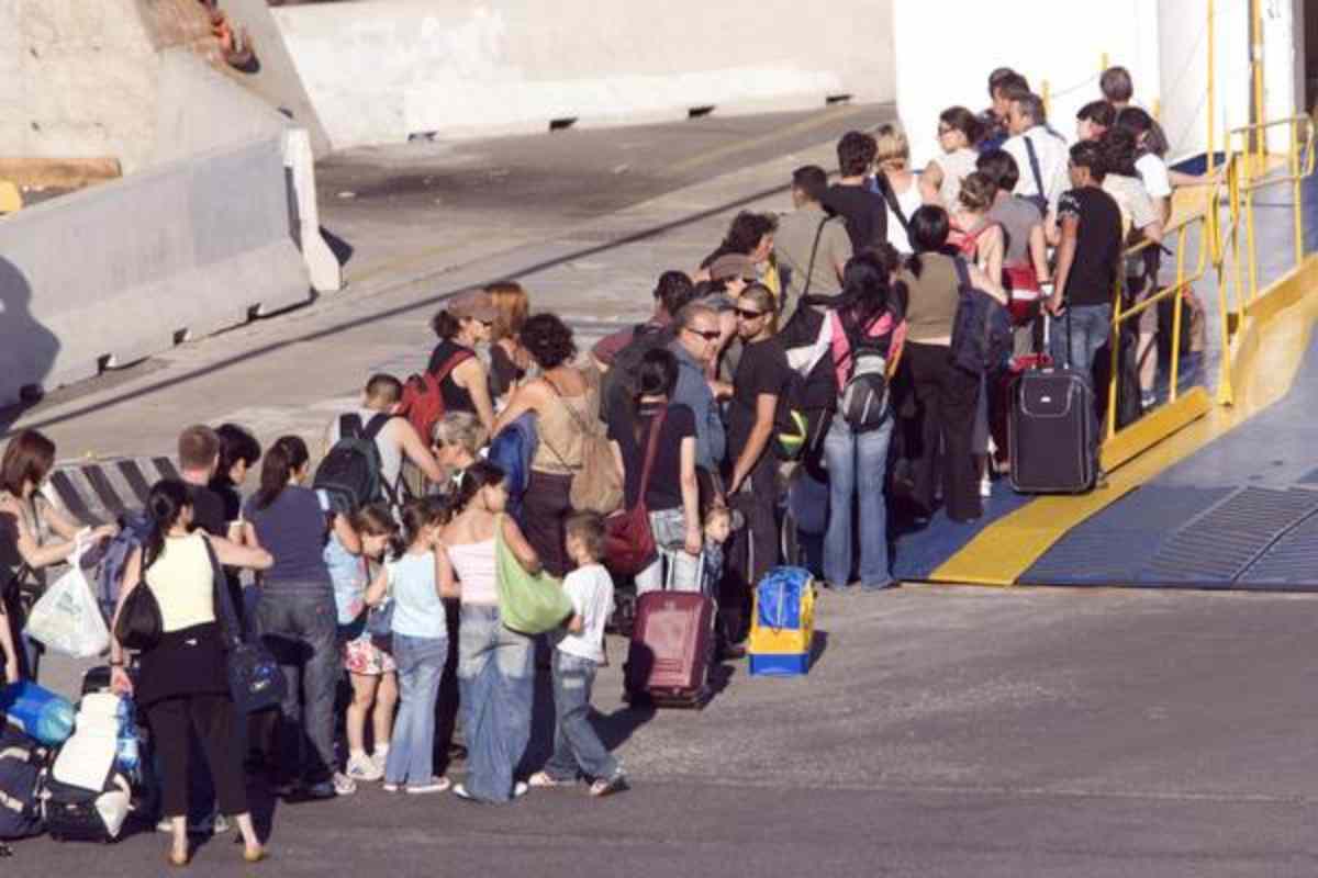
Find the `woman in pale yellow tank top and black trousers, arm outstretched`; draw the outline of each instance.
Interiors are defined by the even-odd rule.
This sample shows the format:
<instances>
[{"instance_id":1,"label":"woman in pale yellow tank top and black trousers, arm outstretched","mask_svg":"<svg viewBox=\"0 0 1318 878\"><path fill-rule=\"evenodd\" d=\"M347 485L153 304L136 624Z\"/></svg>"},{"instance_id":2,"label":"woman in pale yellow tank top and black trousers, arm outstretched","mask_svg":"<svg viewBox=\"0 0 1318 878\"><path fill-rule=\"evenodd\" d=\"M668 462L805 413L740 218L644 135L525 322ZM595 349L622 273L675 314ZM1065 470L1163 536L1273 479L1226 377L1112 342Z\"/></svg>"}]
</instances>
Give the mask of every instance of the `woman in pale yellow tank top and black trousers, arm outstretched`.
<instances>
[{"instance_id":1,"label":"woman in pale yellow tank top and black trousers, arm outstretched","mask_svg":"<svg viewBox=\"0 0 1318 878\"><path fill-rule=\"evenodd\" d=\"M128 558L115 617L117 621L133 588L150 588L161 608L163 632L159 644L142 653L136 687L124 671L124 649L112 640L111 684L117 692L133 692L150 719L163 769L162 810L173 835L170 862L182 866L190 856L187 766L194 736L215 779L220 812L236 817L244 857L256 862L265 853L248 810L243 753L236 746L239 728L215 606L215 569L206 541L210 540L216 561L228 567L265 570L273 558L260 548L191 533L192 500L179 480L158 482L146 508L154 527L146 542Z\"/></svg>"}]
</instances>

